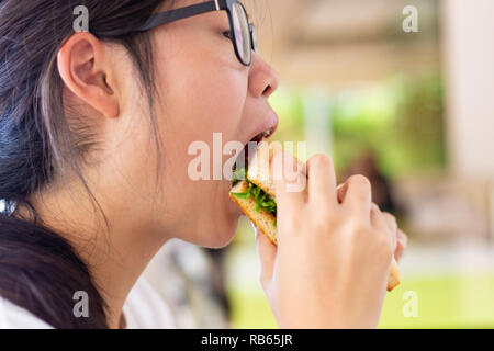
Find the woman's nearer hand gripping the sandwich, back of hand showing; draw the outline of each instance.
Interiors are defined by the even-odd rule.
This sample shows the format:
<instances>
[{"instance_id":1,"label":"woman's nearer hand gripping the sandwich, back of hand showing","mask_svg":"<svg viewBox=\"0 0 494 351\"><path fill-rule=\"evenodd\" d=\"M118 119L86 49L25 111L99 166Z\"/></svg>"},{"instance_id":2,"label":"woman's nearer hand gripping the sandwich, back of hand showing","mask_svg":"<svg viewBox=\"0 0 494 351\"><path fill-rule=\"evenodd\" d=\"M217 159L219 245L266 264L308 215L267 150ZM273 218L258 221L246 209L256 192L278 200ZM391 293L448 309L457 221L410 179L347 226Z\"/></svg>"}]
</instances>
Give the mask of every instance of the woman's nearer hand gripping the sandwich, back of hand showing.
<instances>
[{"instance_id":1,"label":"woman's nearer hand gripping the sandwich, back of hand showing","mask_svg":"<svg viewBox=\"0 0 494 351\"><path fill-rule=\"evenodd\" d=\"M283 155L292 157L278 151L273 165ZM337 191L327 156L313 157L306 168L300 192L274 177L278 248L257 235L271 309L281 328L374 328L393 253L400 258L406 241L397 238L394 217L372 204L364 177L350 177Z\"/></svg>"}]
</instances>

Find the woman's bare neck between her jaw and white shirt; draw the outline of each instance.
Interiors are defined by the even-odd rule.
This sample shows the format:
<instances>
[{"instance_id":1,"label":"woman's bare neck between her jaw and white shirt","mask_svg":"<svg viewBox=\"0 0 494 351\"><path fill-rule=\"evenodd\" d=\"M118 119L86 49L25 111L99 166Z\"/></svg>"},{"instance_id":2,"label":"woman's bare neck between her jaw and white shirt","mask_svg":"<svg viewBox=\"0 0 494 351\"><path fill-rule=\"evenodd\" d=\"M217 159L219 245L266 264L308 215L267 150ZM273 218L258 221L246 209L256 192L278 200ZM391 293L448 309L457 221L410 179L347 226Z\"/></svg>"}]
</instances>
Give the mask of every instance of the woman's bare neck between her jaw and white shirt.
<instances>
[{"instance_id":1,"label":"woman's bare neck between her jaw and white shirt","mask_svg":"<svg viewBox=\"0 0 494 351\"><path fill-rule=\"evenodd\" d=\"M82 201L87 197L74 188L70 192L50 189L30 201L42 224L67 239L88 265L108 306L108 325L116 329L124 321L122 309L131 288L167 238L153 235L146 226L149 220L134 212L132 202L105 203L105 199L121 199L112 194L97 196L106 228L90 201ZM15 215L26 218L25 208L19 207Z\"/></svg>"}]
</instances>

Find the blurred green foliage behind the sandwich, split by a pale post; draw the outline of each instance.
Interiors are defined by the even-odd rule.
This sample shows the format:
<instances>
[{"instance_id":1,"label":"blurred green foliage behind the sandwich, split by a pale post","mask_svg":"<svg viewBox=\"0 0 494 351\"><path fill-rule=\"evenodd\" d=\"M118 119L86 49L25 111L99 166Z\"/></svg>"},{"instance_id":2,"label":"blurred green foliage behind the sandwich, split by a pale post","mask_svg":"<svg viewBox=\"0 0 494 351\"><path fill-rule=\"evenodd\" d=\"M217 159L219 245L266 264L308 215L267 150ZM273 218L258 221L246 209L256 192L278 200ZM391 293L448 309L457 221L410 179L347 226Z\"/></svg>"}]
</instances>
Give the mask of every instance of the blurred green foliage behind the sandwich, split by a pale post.
<instances>
[{"instance_id":1,"label":"blurred green foliage behind the sandwich, split by a pale post","mask_svg":"<svg viewBox=\"0 0 494 351\"><path fill-rule=\"evenodd\" d=\"M276 138L304 139L302 89L282 89L271 99L280 115ZM344 171L374 151L390 178L442 170L446 166L442 80L439 73L395 76L378 86L328 93L333 158Z\"/></svg>"}]
</instances>

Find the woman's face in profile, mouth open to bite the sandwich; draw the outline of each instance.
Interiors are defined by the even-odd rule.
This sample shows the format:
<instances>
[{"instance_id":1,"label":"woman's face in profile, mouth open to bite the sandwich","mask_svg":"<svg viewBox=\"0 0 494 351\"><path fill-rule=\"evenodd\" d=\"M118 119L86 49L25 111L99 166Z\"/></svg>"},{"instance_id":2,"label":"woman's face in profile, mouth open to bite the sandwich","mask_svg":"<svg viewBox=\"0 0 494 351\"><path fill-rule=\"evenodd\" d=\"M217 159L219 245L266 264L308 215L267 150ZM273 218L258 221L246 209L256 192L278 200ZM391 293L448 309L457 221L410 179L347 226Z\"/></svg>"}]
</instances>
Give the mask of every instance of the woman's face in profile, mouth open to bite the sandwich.
<instances>
[{"instance_id":1,"label":"woman's face in profile, mouth open to bite the sandwich","mask_svg":"<svg viewBox=\"0 0 494 351\"><path fill-rule=\"evenodd\" d=\"M176 1L175 8L197 2L201 1ZM151 32L159 93L156 116L162 143L160 192L154 188L156 159L149 149L154 147L151 129L130 125L141 132L137 136L133 134L133 147L125 158L125 177L133 189L155 200L150 205L148 197L142 199L142 211L148 212L156 233L206 247L228 244L240 215L228 197L231 180L223 174L221 180L213 180L214 167L221 169L232 157L223 155L223 146L233 140L246 145L278 125L278 117L268 104L269 95L278 87L278 77L254 53L250 67L242 65L232 42L223 35L226 31L229 31L227 13L215 11ZM127 105L143 104L132 99L137 98L128 97ZM215 149L214 133L220 133L216 138L221 135L222 139ZM210 161L203 165L210 167L210 180L194 181L189 171L191 161L200 154L188 150L198 141L210 150L210 155L202 154Z\"/></svg>"}]
</instances>

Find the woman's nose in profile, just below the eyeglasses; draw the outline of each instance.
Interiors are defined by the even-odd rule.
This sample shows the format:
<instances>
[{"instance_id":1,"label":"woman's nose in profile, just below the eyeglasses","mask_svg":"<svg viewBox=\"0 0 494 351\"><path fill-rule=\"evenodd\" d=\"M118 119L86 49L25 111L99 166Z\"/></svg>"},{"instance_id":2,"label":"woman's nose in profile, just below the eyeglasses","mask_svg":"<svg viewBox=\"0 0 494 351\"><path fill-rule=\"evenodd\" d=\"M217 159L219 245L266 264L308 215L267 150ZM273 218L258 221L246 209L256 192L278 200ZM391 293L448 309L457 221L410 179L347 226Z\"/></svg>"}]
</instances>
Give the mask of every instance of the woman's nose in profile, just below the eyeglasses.
<instances>
[{"instance_id":1,"label":"woman's nose in profile, just below the eyeglasses","mask_svg":"<svg viewBox=\"0 0 494 351\"><path fill-rule=\"evenodd\" d=\"M268 99L280 84L280 78L268 63L252 52L252 63L249 73L249 90L256 98Z\"/></svg>"}]
</instances>

